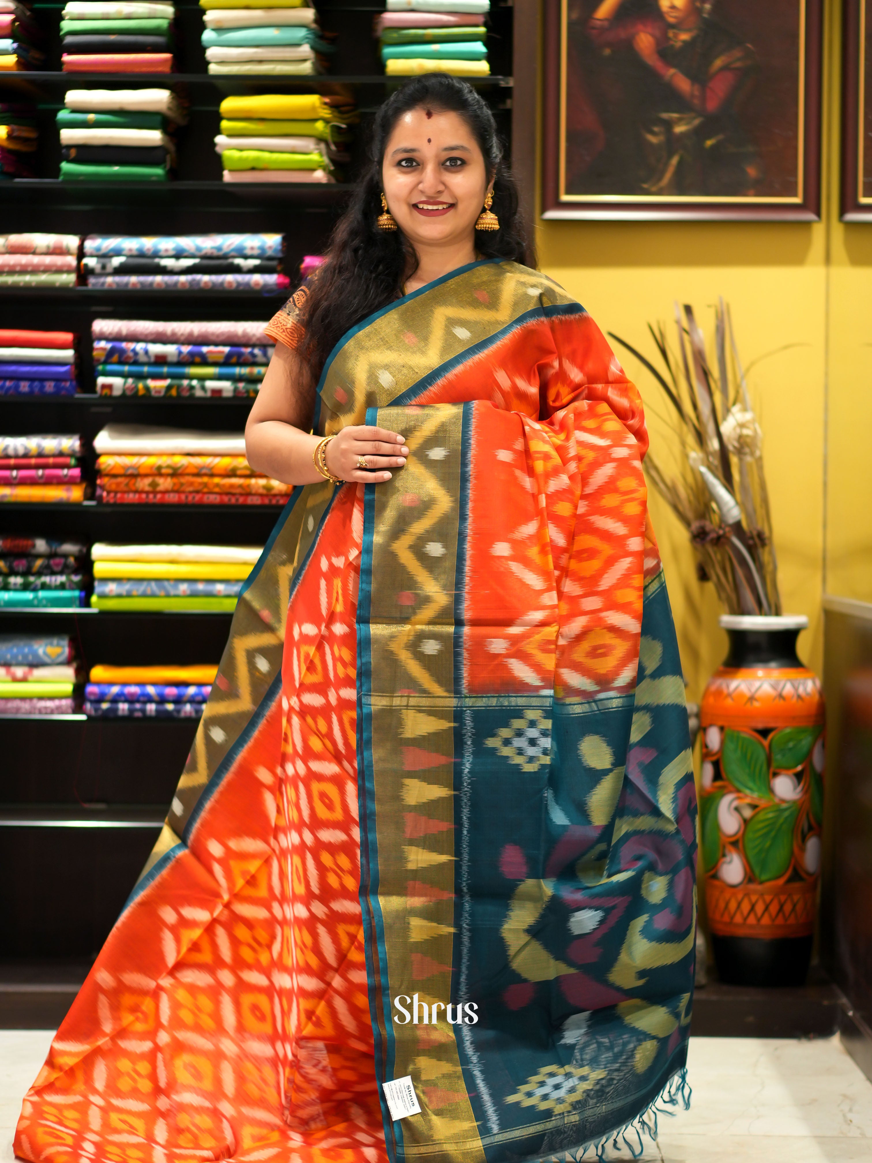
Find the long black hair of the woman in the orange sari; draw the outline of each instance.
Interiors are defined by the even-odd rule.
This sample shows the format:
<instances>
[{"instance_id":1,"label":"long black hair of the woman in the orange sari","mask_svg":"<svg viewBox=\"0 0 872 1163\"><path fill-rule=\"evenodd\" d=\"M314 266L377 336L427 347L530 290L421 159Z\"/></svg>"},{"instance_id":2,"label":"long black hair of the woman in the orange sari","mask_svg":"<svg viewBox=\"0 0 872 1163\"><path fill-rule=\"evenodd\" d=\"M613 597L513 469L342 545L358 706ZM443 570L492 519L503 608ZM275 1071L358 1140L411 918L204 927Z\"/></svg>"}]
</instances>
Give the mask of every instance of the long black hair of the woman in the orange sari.
<instances>
[{"instance_id":1,"label":"long black hair of the woman in the orange sari","mask_svg":"<svg viewBox=\"0 0 872 1163\"><path fill-rule=\"evenodd\" d=\"M488 179L493 178L493 212L500 229L479 230L476 249L484 258L528 262L517 187L502 160L493 113L476 90L446 73L415 77L385 101L376 114L366 169L351 202L336 223L327 262L313 279L305 308L306 356L317 379L336 342L362 319L392 302L403 279L417 269L417 257L401 230L380 230L381 162L399 119L426 106L457 113L478 142Z\"/></svg>"}]
</instances>

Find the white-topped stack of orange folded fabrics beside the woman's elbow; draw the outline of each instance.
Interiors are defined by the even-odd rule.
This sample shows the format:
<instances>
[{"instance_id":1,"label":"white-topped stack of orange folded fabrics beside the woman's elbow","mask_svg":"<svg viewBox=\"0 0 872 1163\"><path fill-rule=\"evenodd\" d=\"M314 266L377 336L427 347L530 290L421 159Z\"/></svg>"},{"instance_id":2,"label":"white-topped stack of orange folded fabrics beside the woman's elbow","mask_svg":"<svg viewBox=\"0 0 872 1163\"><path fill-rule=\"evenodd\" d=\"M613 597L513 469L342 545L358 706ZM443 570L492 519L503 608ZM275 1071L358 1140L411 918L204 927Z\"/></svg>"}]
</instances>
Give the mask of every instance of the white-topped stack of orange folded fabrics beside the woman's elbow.
<instances>
[{"instance_id":1,"label":"white-topped stack of orange folded fabrics beside the woman's elbow","mask_svg":"<svg viewBox=\"0 0 872 1163\"><path fill-rule=\"evenodd\" d=\"M98 498L110 505L284 505L292 486L241 476L245 437L107 424L94 437Z\"/></svg>"}]
</instances>

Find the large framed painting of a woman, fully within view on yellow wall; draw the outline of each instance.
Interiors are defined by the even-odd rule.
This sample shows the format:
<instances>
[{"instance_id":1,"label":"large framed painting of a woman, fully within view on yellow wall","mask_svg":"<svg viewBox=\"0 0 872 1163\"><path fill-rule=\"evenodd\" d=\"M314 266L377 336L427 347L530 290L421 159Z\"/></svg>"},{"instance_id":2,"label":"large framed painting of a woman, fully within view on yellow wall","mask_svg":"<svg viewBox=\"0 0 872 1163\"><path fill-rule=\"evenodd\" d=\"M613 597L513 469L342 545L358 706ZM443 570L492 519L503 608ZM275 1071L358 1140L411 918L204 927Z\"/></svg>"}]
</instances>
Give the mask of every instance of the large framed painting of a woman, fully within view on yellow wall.
<instances>
[{"instance_id":1,"label":"large framed painting of a woman, fully within view on yellow wall","mask_svg":"<svg viewBox=\"0 0 872 1163\"><path fill-rule=\"evenodd\" d=\"M819 219L822 2L544 0L543 216Z\"/></svg>"}]
</instances>

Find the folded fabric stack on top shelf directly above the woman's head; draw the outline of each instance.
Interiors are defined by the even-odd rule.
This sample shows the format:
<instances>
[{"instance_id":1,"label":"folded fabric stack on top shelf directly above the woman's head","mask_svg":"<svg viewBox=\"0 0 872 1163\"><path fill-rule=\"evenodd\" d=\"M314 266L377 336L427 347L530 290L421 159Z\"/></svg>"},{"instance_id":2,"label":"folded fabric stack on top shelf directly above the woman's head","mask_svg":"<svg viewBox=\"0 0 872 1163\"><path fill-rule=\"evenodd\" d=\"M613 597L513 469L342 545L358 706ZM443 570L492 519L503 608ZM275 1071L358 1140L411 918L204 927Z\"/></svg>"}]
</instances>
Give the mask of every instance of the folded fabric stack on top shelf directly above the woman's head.
<instances>
[{"instance_id":1,"label":"folded fabric stack on top shelf directly above the woman's head","mask_svg":"<svg viewBox=\"0 0 872 1163\"><path fill-rule=\"evenodd\" d=\"M376 21L388 77L487 77L484 19L491 0L387 0Z\"/></svg>"}]
</instances>

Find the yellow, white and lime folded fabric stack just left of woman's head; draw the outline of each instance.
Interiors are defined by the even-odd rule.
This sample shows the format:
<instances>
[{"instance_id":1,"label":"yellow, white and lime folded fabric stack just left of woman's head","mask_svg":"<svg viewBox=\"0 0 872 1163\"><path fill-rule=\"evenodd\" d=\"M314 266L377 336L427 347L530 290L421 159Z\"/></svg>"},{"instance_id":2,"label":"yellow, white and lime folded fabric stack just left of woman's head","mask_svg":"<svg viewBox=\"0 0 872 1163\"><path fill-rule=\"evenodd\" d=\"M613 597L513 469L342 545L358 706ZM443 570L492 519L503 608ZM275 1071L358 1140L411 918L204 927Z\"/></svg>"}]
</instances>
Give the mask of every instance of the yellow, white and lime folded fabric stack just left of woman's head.
<instances>
[{"instance_id":1,"label":"yellow, white and lime folded fabric stack just left of woman's head","mask_svg":"<svg viewBox=\"0 0 872 1163\"><path fill-rule=\"evenodd\" d=\"M224 181L336 181L359 119L346 98L320 93L228 97L220 112Z\"/></svg>"}]
</instances>

